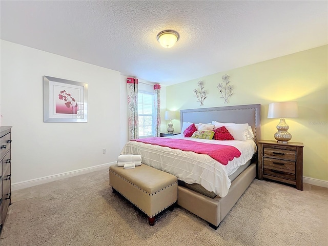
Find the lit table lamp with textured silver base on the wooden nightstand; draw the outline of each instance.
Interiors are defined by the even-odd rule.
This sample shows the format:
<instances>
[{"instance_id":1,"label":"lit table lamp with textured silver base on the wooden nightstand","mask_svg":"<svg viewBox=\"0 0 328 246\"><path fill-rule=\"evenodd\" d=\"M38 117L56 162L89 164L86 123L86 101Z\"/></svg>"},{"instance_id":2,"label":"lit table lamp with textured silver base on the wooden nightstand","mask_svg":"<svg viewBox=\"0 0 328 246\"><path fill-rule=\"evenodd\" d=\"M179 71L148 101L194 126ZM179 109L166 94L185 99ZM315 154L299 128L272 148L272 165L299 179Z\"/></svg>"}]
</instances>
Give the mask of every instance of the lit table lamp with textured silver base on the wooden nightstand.
<instances>
[{"instance_id":1,"label":"lit table lamp with textured silver base on the wooden nightstand","mask_svg":"<svg viewBox=\"0 0 328 246\"><path fill-rule=\"evenodd\" d=\"M285 122L285 118L297 118L298 107L296 101L284 101L281 103L269 104L268 118L280 118L277 126L278 132L275 133L277 142L288 143L292 139L292 134L288 132L289 126Z\"/></svg>"}]
</instances>

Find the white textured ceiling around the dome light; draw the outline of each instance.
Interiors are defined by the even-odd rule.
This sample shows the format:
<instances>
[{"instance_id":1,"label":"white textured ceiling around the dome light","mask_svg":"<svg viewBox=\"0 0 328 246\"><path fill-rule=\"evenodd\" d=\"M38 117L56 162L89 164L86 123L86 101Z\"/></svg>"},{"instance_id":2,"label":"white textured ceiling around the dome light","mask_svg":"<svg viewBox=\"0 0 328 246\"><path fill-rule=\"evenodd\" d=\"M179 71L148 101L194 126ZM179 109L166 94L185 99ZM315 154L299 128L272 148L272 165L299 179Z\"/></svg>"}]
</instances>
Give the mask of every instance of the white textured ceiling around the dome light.
<instances>
[{"instance_id":1,"label":"white textured ceiling around the dome light","mask_svg":"<svg viewBox=\"0 0 328 246\"><path fill-rule=\"evenodd\" d=\"M172 85L328 43L327 1L1 1L1 38ZM171 49L157 33L176 30Z\"/></svg>"}]
</instances>

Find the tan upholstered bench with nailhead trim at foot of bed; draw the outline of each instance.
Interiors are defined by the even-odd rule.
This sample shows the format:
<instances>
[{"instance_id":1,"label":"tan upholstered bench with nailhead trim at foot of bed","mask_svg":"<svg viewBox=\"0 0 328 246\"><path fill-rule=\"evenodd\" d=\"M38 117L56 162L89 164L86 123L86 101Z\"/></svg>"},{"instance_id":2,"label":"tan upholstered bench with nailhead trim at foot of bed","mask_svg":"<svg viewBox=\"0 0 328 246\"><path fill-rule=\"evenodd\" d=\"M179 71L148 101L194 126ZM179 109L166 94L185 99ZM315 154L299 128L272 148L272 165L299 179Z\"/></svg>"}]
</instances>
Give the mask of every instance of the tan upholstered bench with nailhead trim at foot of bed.
<instances>
[{"instance_id":1,"label":"tan upholstered bench with nailhead trim at foot of bed","mask_svg":"<svg viewBox=\"0 0 328 246\"><path fill-rule=\"evenodd\" d=\"M134 169L110 166L109 184L148 216L150 226L157 214L173 208L178 197L177 178L145 164Z\"/></svg>"}]
</instances>

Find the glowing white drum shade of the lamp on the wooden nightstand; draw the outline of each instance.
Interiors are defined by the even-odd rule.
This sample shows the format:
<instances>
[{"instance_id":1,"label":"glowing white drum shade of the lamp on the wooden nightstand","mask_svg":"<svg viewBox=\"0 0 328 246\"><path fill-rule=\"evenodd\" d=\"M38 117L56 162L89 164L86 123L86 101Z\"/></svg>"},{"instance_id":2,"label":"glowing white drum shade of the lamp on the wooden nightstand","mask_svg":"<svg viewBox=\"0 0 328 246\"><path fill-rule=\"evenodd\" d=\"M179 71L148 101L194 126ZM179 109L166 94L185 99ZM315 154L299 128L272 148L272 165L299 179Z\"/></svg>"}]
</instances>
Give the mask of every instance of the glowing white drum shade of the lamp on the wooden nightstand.
<instances>
[{"instance_id":1,"label":"glowing white drum shade of the lamp on the wooden nightstand","mask_svg":"<svg viewBox=\"0 0 328 246\"><path fill-rule=\"evenodd\" d=\"M268 118L297 118L297 101L269 104Z\"/></svg>"}]
</instances>

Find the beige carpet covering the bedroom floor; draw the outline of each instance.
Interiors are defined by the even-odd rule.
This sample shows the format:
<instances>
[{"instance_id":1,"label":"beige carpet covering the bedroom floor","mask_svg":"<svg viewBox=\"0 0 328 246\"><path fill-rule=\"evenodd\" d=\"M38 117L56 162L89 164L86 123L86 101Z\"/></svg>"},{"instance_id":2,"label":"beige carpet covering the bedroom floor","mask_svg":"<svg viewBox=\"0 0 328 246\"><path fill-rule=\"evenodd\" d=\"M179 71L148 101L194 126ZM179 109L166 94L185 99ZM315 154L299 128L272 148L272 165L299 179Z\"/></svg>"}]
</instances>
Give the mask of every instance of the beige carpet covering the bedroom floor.
<instances>
[{"instance_id":1,"label":"beige carpet covering the bedroom floor","mask_svg":"<svg viewBox=\"0 0 328 246\"><path fill-rule=\"evenodd\" d=\"M328 245L328 190L255 179L219 228L182 208L150 227L109 186L108 170L12 194L2 246Z\"/></svg>"}]
</instances>

